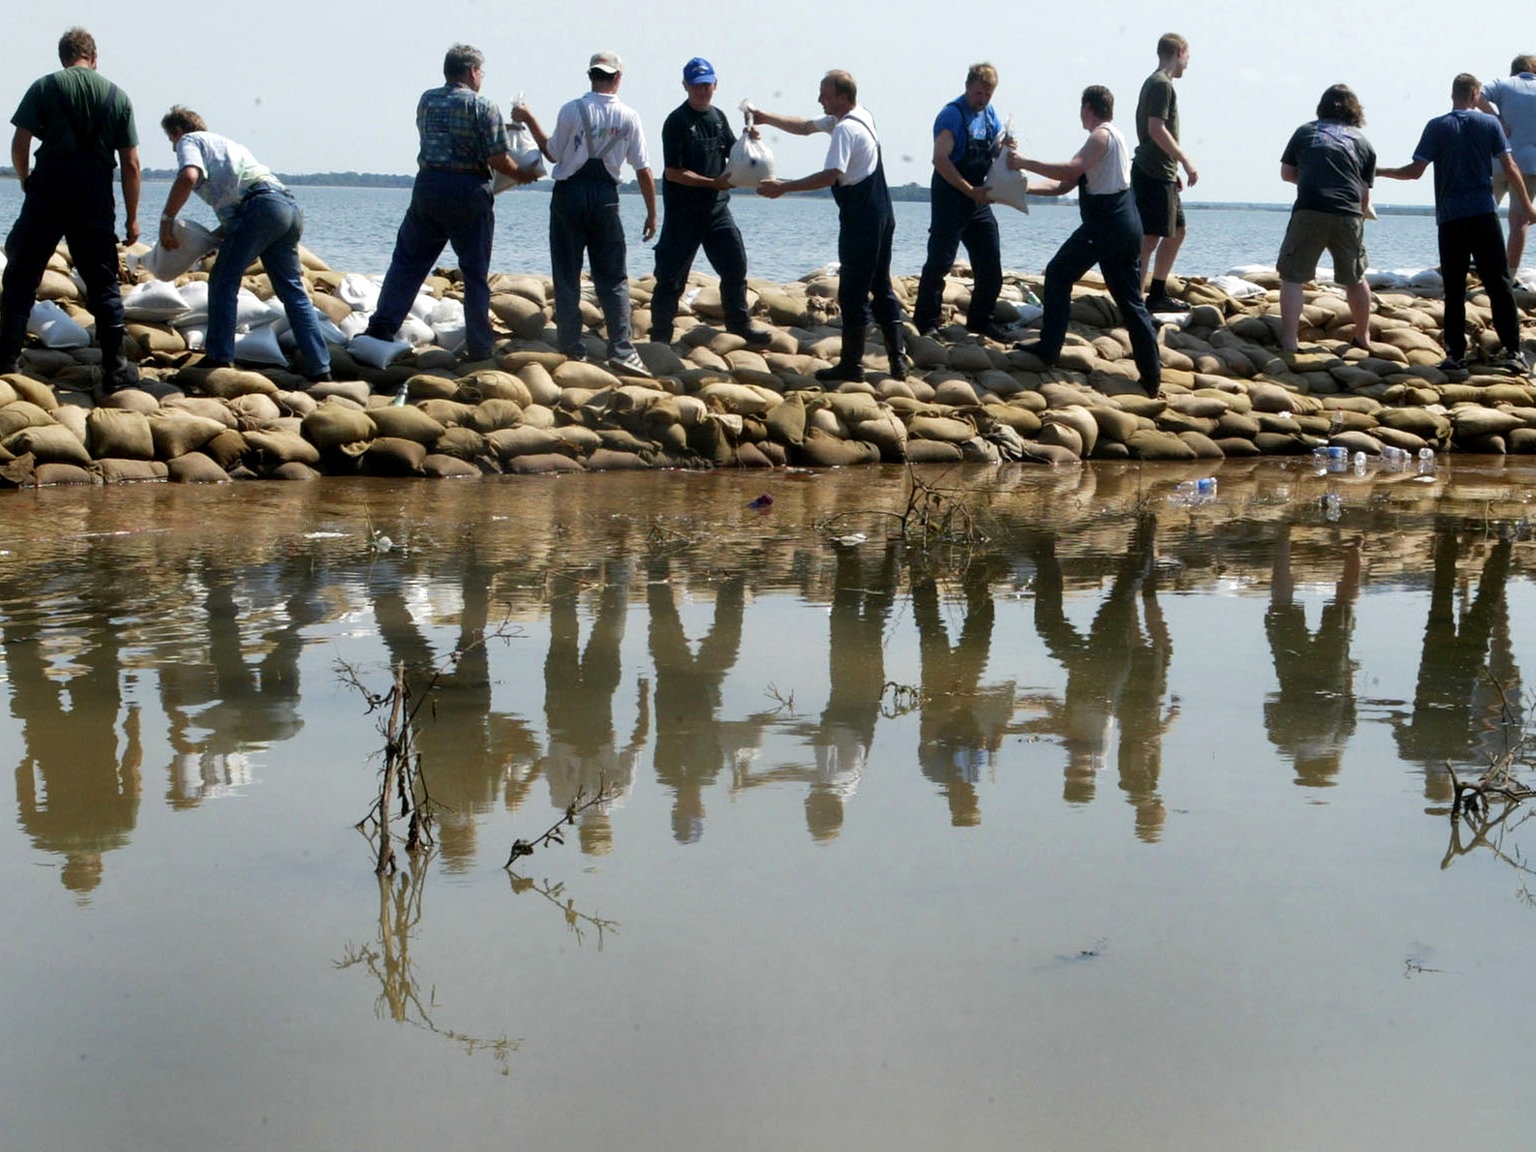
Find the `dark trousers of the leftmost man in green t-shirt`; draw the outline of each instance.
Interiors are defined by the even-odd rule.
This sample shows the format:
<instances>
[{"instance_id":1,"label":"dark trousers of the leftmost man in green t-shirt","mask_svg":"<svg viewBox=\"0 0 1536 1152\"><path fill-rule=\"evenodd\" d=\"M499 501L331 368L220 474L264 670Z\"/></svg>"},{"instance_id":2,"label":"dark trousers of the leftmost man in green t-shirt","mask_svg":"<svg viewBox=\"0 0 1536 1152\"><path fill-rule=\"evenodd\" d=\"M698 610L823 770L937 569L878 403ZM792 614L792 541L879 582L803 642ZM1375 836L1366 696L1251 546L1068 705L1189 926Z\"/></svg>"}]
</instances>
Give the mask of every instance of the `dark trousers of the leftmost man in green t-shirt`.
<instances>
[{"instance_id":1,"label":"dark trousers of the leftmost man in green t-shirt","mask_svg":"<svg viewBox=\"0 0 1536 1152\"><path fill-rule=\"evenodd\" d=\"M92 157L77 155L46 158L26 181L22 214L5 243L0 364L14 364L26 343L37 286L60 240L69 241L75 272L86 283L86 307L95 316L101 361L111 372L123 350L112 169Z\"/></svg>"}]
</instances>

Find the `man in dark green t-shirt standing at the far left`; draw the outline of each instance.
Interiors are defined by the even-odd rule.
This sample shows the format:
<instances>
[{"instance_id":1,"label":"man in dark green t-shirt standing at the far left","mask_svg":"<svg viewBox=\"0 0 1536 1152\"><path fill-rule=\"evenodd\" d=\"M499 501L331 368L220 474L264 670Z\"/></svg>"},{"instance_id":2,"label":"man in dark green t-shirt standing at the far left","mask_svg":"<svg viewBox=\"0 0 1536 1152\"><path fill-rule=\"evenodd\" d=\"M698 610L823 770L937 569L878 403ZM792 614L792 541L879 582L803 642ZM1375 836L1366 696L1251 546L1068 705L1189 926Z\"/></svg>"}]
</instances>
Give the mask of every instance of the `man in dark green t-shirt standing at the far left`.
<instances>
[{"instance_id":1,"label":"man in dark green t-shirt standing at the far left","mask_svg":"<svg viewBox=\"0 0 1536 1152\"><path fill-rule=\"evenodd\" d=\"M75 272L86 283L95 316L103 387L131 387L138 369L123 355L123 300L118 293L117 204L112 169L123 169L123 241L138 240L138 129L134 104L97 69L95 38L71 28L58 40L63 71L26 89L11 123L11 163L26 198L6 240L0 301L0 372L15 372L26 321L60 238L69 241ZM32 140L38 141L32 170ZM115 164L114 164L115 157Z\"/></svg>"}]
</instances>

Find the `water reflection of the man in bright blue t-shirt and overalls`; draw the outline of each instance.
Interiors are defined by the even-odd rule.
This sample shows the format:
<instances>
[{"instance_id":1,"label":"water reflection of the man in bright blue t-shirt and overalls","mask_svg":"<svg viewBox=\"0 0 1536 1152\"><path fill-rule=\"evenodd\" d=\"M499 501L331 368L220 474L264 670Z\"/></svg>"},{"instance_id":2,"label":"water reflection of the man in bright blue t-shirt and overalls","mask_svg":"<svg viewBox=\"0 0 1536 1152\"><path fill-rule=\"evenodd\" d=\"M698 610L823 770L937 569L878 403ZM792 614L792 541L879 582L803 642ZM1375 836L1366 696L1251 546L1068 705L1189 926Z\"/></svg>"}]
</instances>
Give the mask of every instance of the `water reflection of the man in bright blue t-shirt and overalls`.
<instances>
[{"instance_id":1,"label":"water reflection of the man in bright blue t-shirt and overalls","mask_svg":"<svg viewBox=\"0 0 1536 1152\"><path fill-rule=\"evenodd\" d=\"M949 800L949 823L982 823L975 785L982 766L992 765L1014 713L1012 682L980 688L992 647L995 608L986 561L972 561L960 578L965 622L951 647L931 573L912 573L912 619L922 660L923 714L917 760L923 776Z\"/></svg>"}]
</instances>

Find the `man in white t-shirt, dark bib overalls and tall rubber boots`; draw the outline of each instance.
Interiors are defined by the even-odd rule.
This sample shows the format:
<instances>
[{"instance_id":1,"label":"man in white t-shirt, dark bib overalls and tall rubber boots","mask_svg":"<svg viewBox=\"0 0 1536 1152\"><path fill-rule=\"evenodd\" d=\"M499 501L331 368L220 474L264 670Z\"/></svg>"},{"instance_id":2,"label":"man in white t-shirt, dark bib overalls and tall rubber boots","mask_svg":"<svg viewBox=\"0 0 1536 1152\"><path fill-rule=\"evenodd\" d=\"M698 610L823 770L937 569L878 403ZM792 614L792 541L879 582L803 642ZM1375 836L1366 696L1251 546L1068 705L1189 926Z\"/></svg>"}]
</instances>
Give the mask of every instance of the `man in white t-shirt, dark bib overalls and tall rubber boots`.
<instances>
[{"instance_id":1,"label":"man in white t-shirt, dark bib overalls and tall rubber boots","mask_svg":"<svg viewBox=\"0 0 1536 1152\"><path fill-rule=\"evenodd\" d=\"M895 214L885 183L880 140L874 118L859 104L859 88L843 71L822 77L819 94L825 115L814 120L753 109L753 120L793 135L829 132L825 167L799 180L765 180L757 195L777 200L785 192L833 189L837 201L837 260L840 263L837 306L843 313L843 352L837 364L822 369L823 384L863 379L865 336L869 316L880 324L891 375L906 379L906 347L902 336L902 304L891 287L891 241Z\"/></svg>"}]
</instances>

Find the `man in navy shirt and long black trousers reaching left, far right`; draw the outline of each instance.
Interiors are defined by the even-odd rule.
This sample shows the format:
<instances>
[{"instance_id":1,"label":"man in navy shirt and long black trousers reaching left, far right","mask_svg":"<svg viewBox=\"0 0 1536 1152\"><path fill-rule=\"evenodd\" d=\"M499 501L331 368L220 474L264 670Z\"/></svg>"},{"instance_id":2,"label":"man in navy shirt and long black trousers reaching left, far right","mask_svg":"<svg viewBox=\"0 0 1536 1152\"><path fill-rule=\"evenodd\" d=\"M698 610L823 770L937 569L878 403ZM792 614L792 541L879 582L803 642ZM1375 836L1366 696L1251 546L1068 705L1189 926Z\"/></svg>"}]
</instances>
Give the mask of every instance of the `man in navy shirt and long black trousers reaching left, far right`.
<instances>
[{"instance_id":1,"label":"man in navy shirt and long black trousers reaching left, far right","mask_svg":"<svg viewBox=\"0 0 1536 1152\"><path fill-rule=\"evenodd\" d=\"M1504 230L1499 227L1493 201L1490 160L1498 161L1510 181L1510 195L1521 210L1531 210L1530 192L1521 180L1521 169L1510 155L1499 121L1478 111L1482 84L1478 77L1462 72L1452 81L1452 111L1424 126L1413 163L1402 167L1378 167L1378 177L1418 180L1435 164L1435 223L1439 232L1441 280L1445 284L1445 359L1441 370L1452 376L1467 372L1467 269L1478 266L1478 278L1488 293L1493 330L1504 344L1501 367L1516 375L1530 375L1530 358L1521 352L1521 315L1510 289L1510 266L1505 260Z\"/></svg>"}]
</instances>

